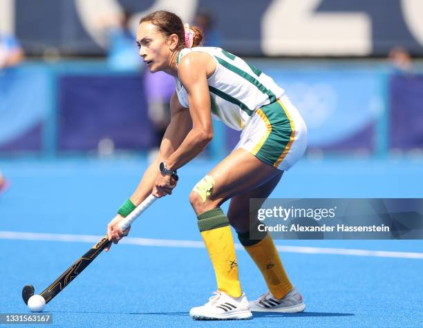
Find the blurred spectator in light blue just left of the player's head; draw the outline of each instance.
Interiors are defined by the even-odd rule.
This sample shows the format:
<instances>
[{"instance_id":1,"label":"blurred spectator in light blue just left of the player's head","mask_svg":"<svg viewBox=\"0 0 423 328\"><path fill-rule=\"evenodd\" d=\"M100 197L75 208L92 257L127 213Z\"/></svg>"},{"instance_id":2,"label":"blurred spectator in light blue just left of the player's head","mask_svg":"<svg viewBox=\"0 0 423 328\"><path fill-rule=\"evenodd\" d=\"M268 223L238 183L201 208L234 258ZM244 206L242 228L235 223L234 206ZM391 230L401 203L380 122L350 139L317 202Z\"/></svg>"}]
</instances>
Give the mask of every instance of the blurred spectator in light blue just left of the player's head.
<instances>
[{"instance_id":1,"label":"blurred spectator in light blue just left of the player's head","mask_svg":"<svg viewBox=\"0 0 423 328\"><path fill-rule=\"evenodd\" d=\"M135 34L129 28L131 15L129 10L125 10L121 16L103 16L100 20L100 28L107 37L107 62L113 70L139 70L142 64Z\"/></svg>"}]
</instances>

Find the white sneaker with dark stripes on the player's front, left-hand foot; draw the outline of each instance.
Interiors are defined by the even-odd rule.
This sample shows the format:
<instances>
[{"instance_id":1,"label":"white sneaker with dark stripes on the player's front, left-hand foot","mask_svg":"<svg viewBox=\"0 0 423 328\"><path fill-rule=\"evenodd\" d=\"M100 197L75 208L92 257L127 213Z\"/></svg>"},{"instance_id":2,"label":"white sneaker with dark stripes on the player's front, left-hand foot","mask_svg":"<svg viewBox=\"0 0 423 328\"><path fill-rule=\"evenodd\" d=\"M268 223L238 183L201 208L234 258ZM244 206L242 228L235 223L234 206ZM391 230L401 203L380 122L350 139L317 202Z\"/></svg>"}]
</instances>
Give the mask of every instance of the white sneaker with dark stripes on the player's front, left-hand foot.
<instances>
[{"instance_id":1,"label":"white sneaker with dark stripes on the player's front, left-hand foot","mask_svg":"<svg viewBox=\"0 0 423 328\"><path fill-rule=\"evenodd\" d=\"M225 293L225 291L214 291L202 307L193 307L189 311L191 318L195 320L240 320L252 318L248 307L248 300L245 293L238 298Z\"/></svg>"}]
</instances>

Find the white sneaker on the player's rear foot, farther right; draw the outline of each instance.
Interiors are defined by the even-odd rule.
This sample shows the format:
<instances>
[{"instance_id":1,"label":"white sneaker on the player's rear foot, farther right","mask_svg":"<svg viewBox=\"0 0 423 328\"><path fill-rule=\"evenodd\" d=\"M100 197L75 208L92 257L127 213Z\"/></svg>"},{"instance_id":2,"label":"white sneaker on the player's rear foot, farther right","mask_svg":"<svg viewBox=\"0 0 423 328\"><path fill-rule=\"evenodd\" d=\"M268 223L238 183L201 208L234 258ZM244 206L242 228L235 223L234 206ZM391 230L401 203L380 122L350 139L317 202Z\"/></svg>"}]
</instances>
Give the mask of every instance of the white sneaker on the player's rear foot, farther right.
<instances>
[{"instance_id":1,"label":"white sneaker on the player's rear foot, farther right","mask_svg":"<svg viewBox=\"0 0 423 328\"><path fill-rule=\"evenodd\" d=\"M296 313L306 309L303 297L295 287L284 298L275 298L270 291L267 291L257 300L249 302L249 305L253 312Z\"/></svg>"}]
</instances>

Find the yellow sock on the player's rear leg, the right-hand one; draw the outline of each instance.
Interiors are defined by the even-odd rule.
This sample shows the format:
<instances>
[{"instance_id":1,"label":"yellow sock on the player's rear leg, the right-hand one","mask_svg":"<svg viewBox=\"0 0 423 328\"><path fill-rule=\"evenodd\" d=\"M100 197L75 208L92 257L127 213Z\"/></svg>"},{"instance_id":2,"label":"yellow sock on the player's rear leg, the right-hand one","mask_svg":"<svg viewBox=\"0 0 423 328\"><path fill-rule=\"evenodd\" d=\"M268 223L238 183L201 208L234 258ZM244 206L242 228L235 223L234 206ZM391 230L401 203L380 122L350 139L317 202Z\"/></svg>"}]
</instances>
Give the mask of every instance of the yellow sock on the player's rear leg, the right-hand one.
<instances>
[{"instance_id":1,"label":"yellow sock on the player's rear leg, the right-hand one","mask_svg":"<svg viewBox=\"0 0 423 328\"><path fill-rule=\"evenodd\" d=\"M238 237L245 250L259 267L272 295L276 298L283 298L292 289L292 284L285 269L283 269L281 258L276 247L274 247L270 234L266 233L265 237L255 244L254 240L246 242L246 233L238 233Z\"/></svg>"}]
</instances>

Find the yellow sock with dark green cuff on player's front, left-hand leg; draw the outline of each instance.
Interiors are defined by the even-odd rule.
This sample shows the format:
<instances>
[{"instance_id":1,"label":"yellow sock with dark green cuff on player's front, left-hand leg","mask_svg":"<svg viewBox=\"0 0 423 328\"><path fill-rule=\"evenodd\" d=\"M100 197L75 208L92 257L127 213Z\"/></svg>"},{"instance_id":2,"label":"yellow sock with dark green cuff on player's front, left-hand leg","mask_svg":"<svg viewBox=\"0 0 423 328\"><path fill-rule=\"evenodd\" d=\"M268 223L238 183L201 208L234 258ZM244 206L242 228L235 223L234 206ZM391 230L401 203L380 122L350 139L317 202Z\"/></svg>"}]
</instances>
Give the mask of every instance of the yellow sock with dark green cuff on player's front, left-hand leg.
<instances>
[{"instance_id":1,"label":"yellow sock with dark green cuff on player's front, left-hand leg","mask_svg":"<svg viewBox=\"0 0 423 328\"><path fill-rule=\"evenodd\" d=\"M198 215L198 227L212 260L218 289L235 298L241 296L234 240L223 211L212 209Z\"/></svg>"}]
</instances>

